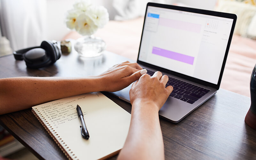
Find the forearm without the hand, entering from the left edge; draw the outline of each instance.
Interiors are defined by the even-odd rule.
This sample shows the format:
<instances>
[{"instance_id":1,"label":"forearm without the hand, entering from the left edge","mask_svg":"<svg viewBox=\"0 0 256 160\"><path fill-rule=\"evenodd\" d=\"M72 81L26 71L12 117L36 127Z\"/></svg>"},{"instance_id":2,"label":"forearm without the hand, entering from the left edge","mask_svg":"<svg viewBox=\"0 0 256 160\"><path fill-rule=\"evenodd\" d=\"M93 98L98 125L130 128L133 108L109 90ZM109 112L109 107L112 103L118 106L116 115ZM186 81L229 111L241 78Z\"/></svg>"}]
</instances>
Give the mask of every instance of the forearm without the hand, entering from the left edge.
<instances>
[{"instance_id":1,"label":"forearm without the hand, entering from the left edge","mask_svg":"<svg viewBox=\"0 0 256 160\"><path fill-rule=\"evenodd\" d=\"M101 91L96 76L86 78L16 77L0 80L0 115L32 106L83 94Z\"/></svg>"}]
</instances>

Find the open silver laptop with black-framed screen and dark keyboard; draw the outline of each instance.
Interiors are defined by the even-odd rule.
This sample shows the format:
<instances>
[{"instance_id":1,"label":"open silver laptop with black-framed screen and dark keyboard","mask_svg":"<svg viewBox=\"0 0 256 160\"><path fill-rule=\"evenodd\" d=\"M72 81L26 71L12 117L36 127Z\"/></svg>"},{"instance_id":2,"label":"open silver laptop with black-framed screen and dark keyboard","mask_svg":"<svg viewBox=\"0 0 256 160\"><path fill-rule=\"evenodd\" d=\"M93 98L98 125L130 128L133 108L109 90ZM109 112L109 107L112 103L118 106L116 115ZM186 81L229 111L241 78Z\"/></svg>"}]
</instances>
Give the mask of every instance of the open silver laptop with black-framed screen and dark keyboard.
<instances>
[{"instance_id":1,"label":"open silver laptop with black-framed screen and dark keyboard","mask_svg":"<svg viewBox=\"0 0 256 160\"><path fill-rule=\"evenodd\" d=\"M173 123L211 98L220 88L236 15L148 3L137 63L153 75L169 76L173 91L159 115ZM113 92L130 102L129 90Z\"/></svg>"}]
</instances>

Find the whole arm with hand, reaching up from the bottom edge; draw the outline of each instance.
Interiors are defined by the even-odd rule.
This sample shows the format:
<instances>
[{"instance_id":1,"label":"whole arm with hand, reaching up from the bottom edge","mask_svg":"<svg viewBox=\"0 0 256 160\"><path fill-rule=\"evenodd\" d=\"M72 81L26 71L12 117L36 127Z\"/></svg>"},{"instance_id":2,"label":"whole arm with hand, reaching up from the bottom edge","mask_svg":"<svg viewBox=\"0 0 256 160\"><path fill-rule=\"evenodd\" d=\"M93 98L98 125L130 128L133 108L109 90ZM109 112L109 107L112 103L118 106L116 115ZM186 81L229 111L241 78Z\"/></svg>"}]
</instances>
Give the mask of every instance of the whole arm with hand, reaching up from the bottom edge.
<instances>
[{"instance_id":1,"label":"whole arm with hand, reaching up from the bottom edge","mask_svg":"<svg viewBox=\"0 0 256 160\"><path fill-rule=\"evenodd\" d=\"M164 142L158 111L172 92L165 85L168 76L155 72L145 74L132 85L130 100L132 117L124 147L118 159L164 159Z\"/></svg>"}]
</instances>

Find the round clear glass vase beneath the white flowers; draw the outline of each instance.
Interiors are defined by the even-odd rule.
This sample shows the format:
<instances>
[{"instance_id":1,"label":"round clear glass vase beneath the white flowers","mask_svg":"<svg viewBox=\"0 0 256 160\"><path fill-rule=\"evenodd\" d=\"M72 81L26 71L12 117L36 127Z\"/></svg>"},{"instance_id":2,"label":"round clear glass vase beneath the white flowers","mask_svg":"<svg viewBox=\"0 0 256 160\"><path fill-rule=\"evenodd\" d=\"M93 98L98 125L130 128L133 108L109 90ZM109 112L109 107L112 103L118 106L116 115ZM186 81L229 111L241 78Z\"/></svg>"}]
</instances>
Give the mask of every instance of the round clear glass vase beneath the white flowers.
<instances>
[{"instance_id":1,"label":"round clear glass vase beneath the white flowers","mask_svg":"<svg viewBox=\"0 0 256 160\"><path fill-rule=\"evenodd\" d=\"M82 57L97 57L103 53L105 46L100 37L91 35L77 39L74 48Z\"/></svg>"}]
</instances>

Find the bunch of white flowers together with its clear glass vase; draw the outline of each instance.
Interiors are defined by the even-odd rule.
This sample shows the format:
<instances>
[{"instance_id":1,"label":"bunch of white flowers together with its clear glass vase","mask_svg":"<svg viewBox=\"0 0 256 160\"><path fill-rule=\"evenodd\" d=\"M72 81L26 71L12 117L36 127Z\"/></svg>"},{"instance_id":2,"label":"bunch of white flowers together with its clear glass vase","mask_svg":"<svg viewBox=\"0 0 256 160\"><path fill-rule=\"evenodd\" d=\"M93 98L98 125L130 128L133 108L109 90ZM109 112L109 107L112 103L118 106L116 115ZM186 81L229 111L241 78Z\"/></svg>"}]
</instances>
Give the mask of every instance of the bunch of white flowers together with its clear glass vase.
<instances>
[{"instance_id":1,"label":"bunch of white flowers together with its clear glass vase","mask_svg":"<svg viewBox=\"0 0 256 160\"><path fill-rule=\"evenodd\" d=\"M90 1L79 1L67 12L66 25L76 30L82 38L77 39L75 50L84 57L95 57L102 54L105 42L93 34L103 28L109 21L105 7L95 6Z\"/></svg>"}]
</instances>

